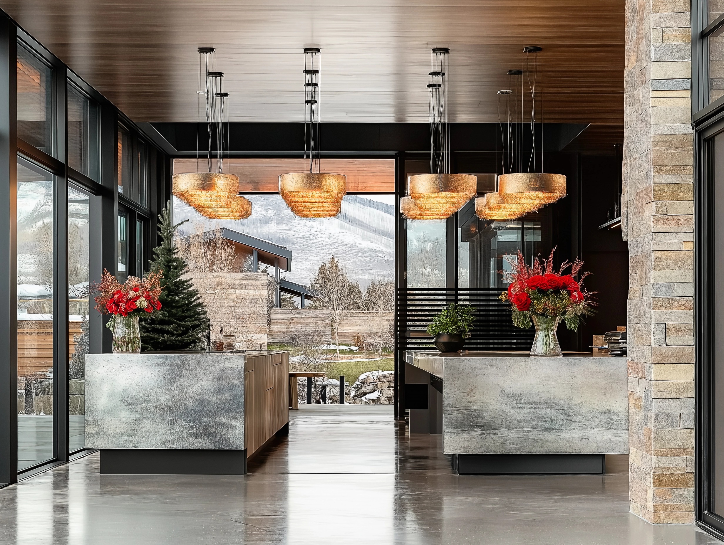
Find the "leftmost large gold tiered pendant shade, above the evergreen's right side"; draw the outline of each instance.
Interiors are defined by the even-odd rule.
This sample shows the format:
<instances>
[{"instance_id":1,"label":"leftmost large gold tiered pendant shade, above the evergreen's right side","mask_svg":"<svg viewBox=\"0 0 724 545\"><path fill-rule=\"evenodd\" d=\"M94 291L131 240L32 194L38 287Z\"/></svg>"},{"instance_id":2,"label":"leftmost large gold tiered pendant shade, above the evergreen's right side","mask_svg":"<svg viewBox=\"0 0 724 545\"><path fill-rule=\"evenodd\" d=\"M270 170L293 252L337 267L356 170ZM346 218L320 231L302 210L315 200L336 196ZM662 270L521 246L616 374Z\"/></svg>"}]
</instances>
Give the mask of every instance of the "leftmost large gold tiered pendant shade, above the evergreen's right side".
<instances>
[{"instance_id":1,"label":"leftmost large gold tiered pendant shade, above the evergreen's right side","mask_svg":"<svg viewBox=\"0 0 724 545\"><path fill-rule=\"evenodd\" d=\"M174 174L171 183L174 196L194 208L227 208L239 193L239 178L234 174Z\"/></svg>"}]
</instances>

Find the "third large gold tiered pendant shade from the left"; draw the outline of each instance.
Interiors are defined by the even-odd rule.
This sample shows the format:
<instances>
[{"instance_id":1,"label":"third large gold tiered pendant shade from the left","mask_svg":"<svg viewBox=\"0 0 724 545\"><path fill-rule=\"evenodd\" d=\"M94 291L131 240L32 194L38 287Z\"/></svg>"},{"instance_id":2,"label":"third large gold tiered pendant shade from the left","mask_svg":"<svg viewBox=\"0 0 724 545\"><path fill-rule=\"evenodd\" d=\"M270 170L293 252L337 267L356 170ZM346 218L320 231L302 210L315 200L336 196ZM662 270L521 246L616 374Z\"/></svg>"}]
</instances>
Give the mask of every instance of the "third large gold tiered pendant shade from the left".
<instances>
[{"instance_id":1,"label":"third large gold tiered pendant shade from the left","mask_svg":"<svg viewBox=\"0 0 724 545\"><path fill-rule=\"evenodd\" d=\"M446 214L444 217L448 218L463 208L477 192L478 178L472 174L408 176L408 195L423 214Z\"/></svg>"}]
</instances>

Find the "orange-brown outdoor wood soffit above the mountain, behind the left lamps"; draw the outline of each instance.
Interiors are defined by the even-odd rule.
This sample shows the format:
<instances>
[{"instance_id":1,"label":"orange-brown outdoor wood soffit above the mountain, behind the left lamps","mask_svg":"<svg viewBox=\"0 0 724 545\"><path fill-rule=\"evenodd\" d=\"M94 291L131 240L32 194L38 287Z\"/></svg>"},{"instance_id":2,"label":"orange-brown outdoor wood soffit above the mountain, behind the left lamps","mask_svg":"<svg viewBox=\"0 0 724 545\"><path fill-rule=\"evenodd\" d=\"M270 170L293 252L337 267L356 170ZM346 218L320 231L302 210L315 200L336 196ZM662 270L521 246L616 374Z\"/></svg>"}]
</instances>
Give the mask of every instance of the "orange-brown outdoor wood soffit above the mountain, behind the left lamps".
<instances>
[{"instance_id":1,"label":"orange-brown outdoor wood soffit above the mountain, behind the left lamps","mask_svg":"<svg viewBox=\"0 0 724 545\"><path fill-rule=\"evenodd\" d=\"M304 172L302 159L224 159L224 172L236 174L242 193L277 193L279 174ZM206 159L174 159L174 174L201 172ZM321 172L345 174L348 193L394 193L395 159L322 159Z\"/></svg>"}]
</instances>

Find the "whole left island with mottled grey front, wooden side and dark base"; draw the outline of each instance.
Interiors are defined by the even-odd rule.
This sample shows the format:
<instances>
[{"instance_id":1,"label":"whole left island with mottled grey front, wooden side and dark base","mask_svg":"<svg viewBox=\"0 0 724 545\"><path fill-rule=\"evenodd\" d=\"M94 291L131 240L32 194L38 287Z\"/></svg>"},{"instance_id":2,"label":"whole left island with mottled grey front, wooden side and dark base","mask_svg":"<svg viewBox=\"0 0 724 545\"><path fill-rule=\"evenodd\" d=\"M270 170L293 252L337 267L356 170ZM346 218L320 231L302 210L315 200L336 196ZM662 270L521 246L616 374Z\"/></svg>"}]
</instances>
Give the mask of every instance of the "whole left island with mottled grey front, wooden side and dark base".
<instances>
[{"instance_id":1,"label":"whole left island with mottled grey front, wooden side and dark base","mask_svg":"<svg viewBox=\"0 0 724 545\"><path fill-rule=\"evenodd\" d=\"M245 473L289 423L288 352L85 356L85 446L101 473Z\"/></svg>"}]
</instances>

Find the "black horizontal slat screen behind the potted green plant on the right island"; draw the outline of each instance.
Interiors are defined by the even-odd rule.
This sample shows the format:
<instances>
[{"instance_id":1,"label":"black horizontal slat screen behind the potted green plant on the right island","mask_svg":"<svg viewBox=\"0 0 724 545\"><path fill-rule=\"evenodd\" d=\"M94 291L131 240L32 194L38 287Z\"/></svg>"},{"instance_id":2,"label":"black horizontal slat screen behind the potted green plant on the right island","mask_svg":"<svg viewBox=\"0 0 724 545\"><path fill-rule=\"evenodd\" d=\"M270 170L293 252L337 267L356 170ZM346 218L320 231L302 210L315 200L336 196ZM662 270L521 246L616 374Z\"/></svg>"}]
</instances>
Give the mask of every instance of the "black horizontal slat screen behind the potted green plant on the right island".
<instances>
[{"instance_id":1,"label":"black horizontal slat screen behind the potted green plant on the right island","mask_svg":"<svg viewBox=\"0 0 724 545\"><path fill-rule=\"evenodd\" d=\"M473 305L475 326L466 350L530 350L534 329L518 329L499 288L403 288L397 290L398 350L436 350L427 326L450 303Z\"/></svg>"}]
</instances>

